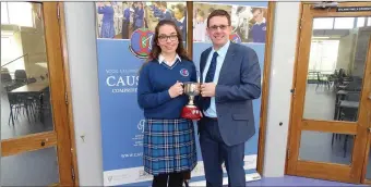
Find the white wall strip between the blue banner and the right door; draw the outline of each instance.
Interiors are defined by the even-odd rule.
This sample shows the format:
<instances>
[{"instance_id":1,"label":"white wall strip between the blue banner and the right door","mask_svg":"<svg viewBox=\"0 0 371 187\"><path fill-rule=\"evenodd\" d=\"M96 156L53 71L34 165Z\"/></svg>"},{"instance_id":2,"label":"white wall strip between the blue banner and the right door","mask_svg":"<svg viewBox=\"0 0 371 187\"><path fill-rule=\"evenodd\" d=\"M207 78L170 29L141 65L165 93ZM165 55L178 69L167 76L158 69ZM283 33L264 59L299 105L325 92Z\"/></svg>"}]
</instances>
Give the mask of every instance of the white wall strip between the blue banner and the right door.
<instances>
[{"instance_id":1,"label":"white wall strip between the blue banner and the right door","mask_svg":"<svg viewBox=\"0 0 371 187\"><path fill-rule=\"evenodd\" d=\"M299 3L276 4L263 173L268 177L285 174Z\"/></svg>"}]
</instances>

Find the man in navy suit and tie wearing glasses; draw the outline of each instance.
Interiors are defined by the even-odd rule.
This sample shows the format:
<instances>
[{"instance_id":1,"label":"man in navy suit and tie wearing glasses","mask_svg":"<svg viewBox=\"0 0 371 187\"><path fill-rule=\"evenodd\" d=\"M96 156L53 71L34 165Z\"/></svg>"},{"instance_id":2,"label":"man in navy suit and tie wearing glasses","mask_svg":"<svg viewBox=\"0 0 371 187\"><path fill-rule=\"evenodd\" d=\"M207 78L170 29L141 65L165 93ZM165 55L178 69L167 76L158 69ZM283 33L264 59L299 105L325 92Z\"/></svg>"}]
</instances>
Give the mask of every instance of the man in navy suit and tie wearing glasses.
<instances>
[{"instance_id":1,"label":"man in navy suit and tie wearing glasses","mask_svg":"<svg viewBox=\"0 0 371 187\"><path fill-rule=\"evenodd\" d=\"M252 100L261 96L261 68L254 50L229 41L230 15L213 11L207 18L213 47L201 54L203 111L200 145L207 187L223 186L223 162L228 185L246 186L244 142L255 134Z\"/></svg>"}]
</instances>

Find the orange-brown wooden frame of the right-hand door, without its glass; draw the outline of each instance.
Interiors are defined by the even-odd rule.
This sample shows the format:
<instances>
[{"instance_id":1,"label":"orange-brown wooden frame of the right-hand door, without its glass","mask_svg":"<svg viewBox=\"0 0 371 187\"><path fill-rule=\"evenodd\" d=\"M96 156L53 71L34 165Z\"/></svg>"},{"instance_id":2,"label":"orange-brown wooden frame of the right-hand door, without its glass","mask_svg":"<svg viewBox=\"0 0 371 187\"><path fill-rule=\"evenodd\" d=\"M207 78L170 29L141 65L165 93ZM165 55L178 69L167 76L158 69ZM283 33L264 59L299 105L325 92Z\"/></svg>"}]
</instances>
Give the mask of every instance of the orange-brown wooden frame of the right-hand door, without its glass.
<instances>
[{"instance_id":1,"label":"orange-brown wooden frame of the right-hand door, without its glass","mask_svg":"<svg viewBox=\"0 0 371 187\"><path fill-rule=\"evenodd\" d=\"M330 10L311 10L311 5L315 4L315 2L300 2L300 18L298 26L298 40L297 40L297 49L296 49L296 62L295 62L295 71L294 71L294 83L292 83L292 95L291 95L291 105L290 105L290 120L289 120L289 136L287 144L287 155L286 155L286 174L288 175L297 175L297 176L308 176L321 179L332 179L345 183L360 183L361 176L364 175L363 163L367 154L366 146L367 146L367 137L368 137L368 127L371 125L370 122L367 122L367 112L363 111L367 108L370 108L370 101L367 101L367 94L370 92L370 76L371 74L371 61L370 61L370 50L371 42L369 42L369 55L366 59L366 72L363 75L362 83L362 94L360 98L359 105L359 117L356 123L351 122L334 122L334 121L313 121L313 120L301 120L302 111L303 111L303 98L296 98L297 95L304 96L304 85L307 82L308 73L308 62L309 62L309 52L310 41L312 36L312 23L313 17L344 17L344 16L371 16L368 12L342 12L338 13L335 9ZM358 7L366 5L364 2L338 2L338 7ZM301 50L300 50L301 49ZM306 50L303 50L306 49ZM307 58L307 59L306 59ZM299 62L306 62L306 64L300 64ZM304 79L304 80L303 80ZM303 88L303 89L296 89ZM363 102L362 102L363 101ZM301 104L300 110L298 107ZM296 108L296 109L295 109ZM361 110L363 112L361 112ZM362 113L362 114L361 114ZM299 116L299 117L297 117ZM299 121L300 120L300 121ZM303 125L300 126L300 124ZM342 124L339 124L342 123ZM357 125L358 124L358 125ZM361 124L361 125L359 125ZM325 125L325 127L323 127ZM322 128L322 129L320 129ZM320 130L319 130L320 129ZM352 152L359 152L361 159L357 159L357 157L352 157L351 165L342 165L336 163L323 163L323 162L314 162L314 161L298 161L299 148L300 148L300 137L301 130L316 130L316 132L325 132L325 133L343 133L357 135L354 150ZM355 154L356 155L356 154ZM355 159L356 158L356 159ZM319 169L320 167L320 169ZM356 170L358 169L358 170Z\"/></svg>"}]
</instances>

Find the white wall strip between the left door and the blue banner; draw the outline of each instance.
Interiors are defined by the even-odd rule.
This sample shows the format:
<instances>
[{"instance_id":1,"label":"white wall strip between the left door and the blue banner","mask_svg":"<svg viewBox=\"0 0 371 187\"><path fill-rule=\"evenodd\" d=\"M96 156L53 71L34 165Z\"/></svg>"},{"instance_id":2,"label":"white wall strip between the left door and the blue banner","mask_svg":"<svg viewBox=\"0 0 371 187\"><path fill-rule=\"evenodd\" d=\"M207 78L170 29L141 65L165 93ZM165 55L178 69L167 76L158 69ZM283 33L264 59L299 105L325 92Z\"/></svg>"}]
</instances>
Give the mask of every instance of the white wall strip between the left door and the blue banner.
<instances>
[{"instance_id":1,"label":"white wall strip between the left door and the blue banner","mask_svg":"<svg viewBox=\"0 0 371 187\"><path fill-rule=\"evenodd\" d=\"M101 186L95 5L93 2L64 5L80 185Z\"/></svg>"}]
</instances>

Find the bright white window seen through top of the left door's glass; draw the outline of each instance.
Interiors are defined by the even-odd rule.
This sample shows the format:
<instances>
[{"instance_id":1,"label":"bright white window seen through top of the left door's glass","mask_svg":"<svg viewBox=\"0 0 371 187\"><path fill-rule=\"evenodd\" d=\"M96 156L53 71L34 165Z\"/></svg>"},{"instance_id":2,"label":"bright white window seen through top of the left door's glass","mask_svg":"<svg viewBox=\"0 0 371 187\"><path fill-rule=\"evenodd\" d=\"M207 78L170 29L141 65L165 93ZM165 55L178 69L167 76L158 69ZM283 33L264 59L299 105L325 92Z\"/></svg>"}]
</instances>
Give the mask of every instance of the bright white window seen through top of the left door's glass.
<instances>
[{"instance_id":1,"label":"bright white window seen through top of the left door's glass","mask_svg":"<svg viewBox=\"0 0 371 187\"><path fill-rule=\"evenodd\" d=\"M29 2L8 2L10 24L33 27L33 11Z\"/></svg>"}]
</instances>

